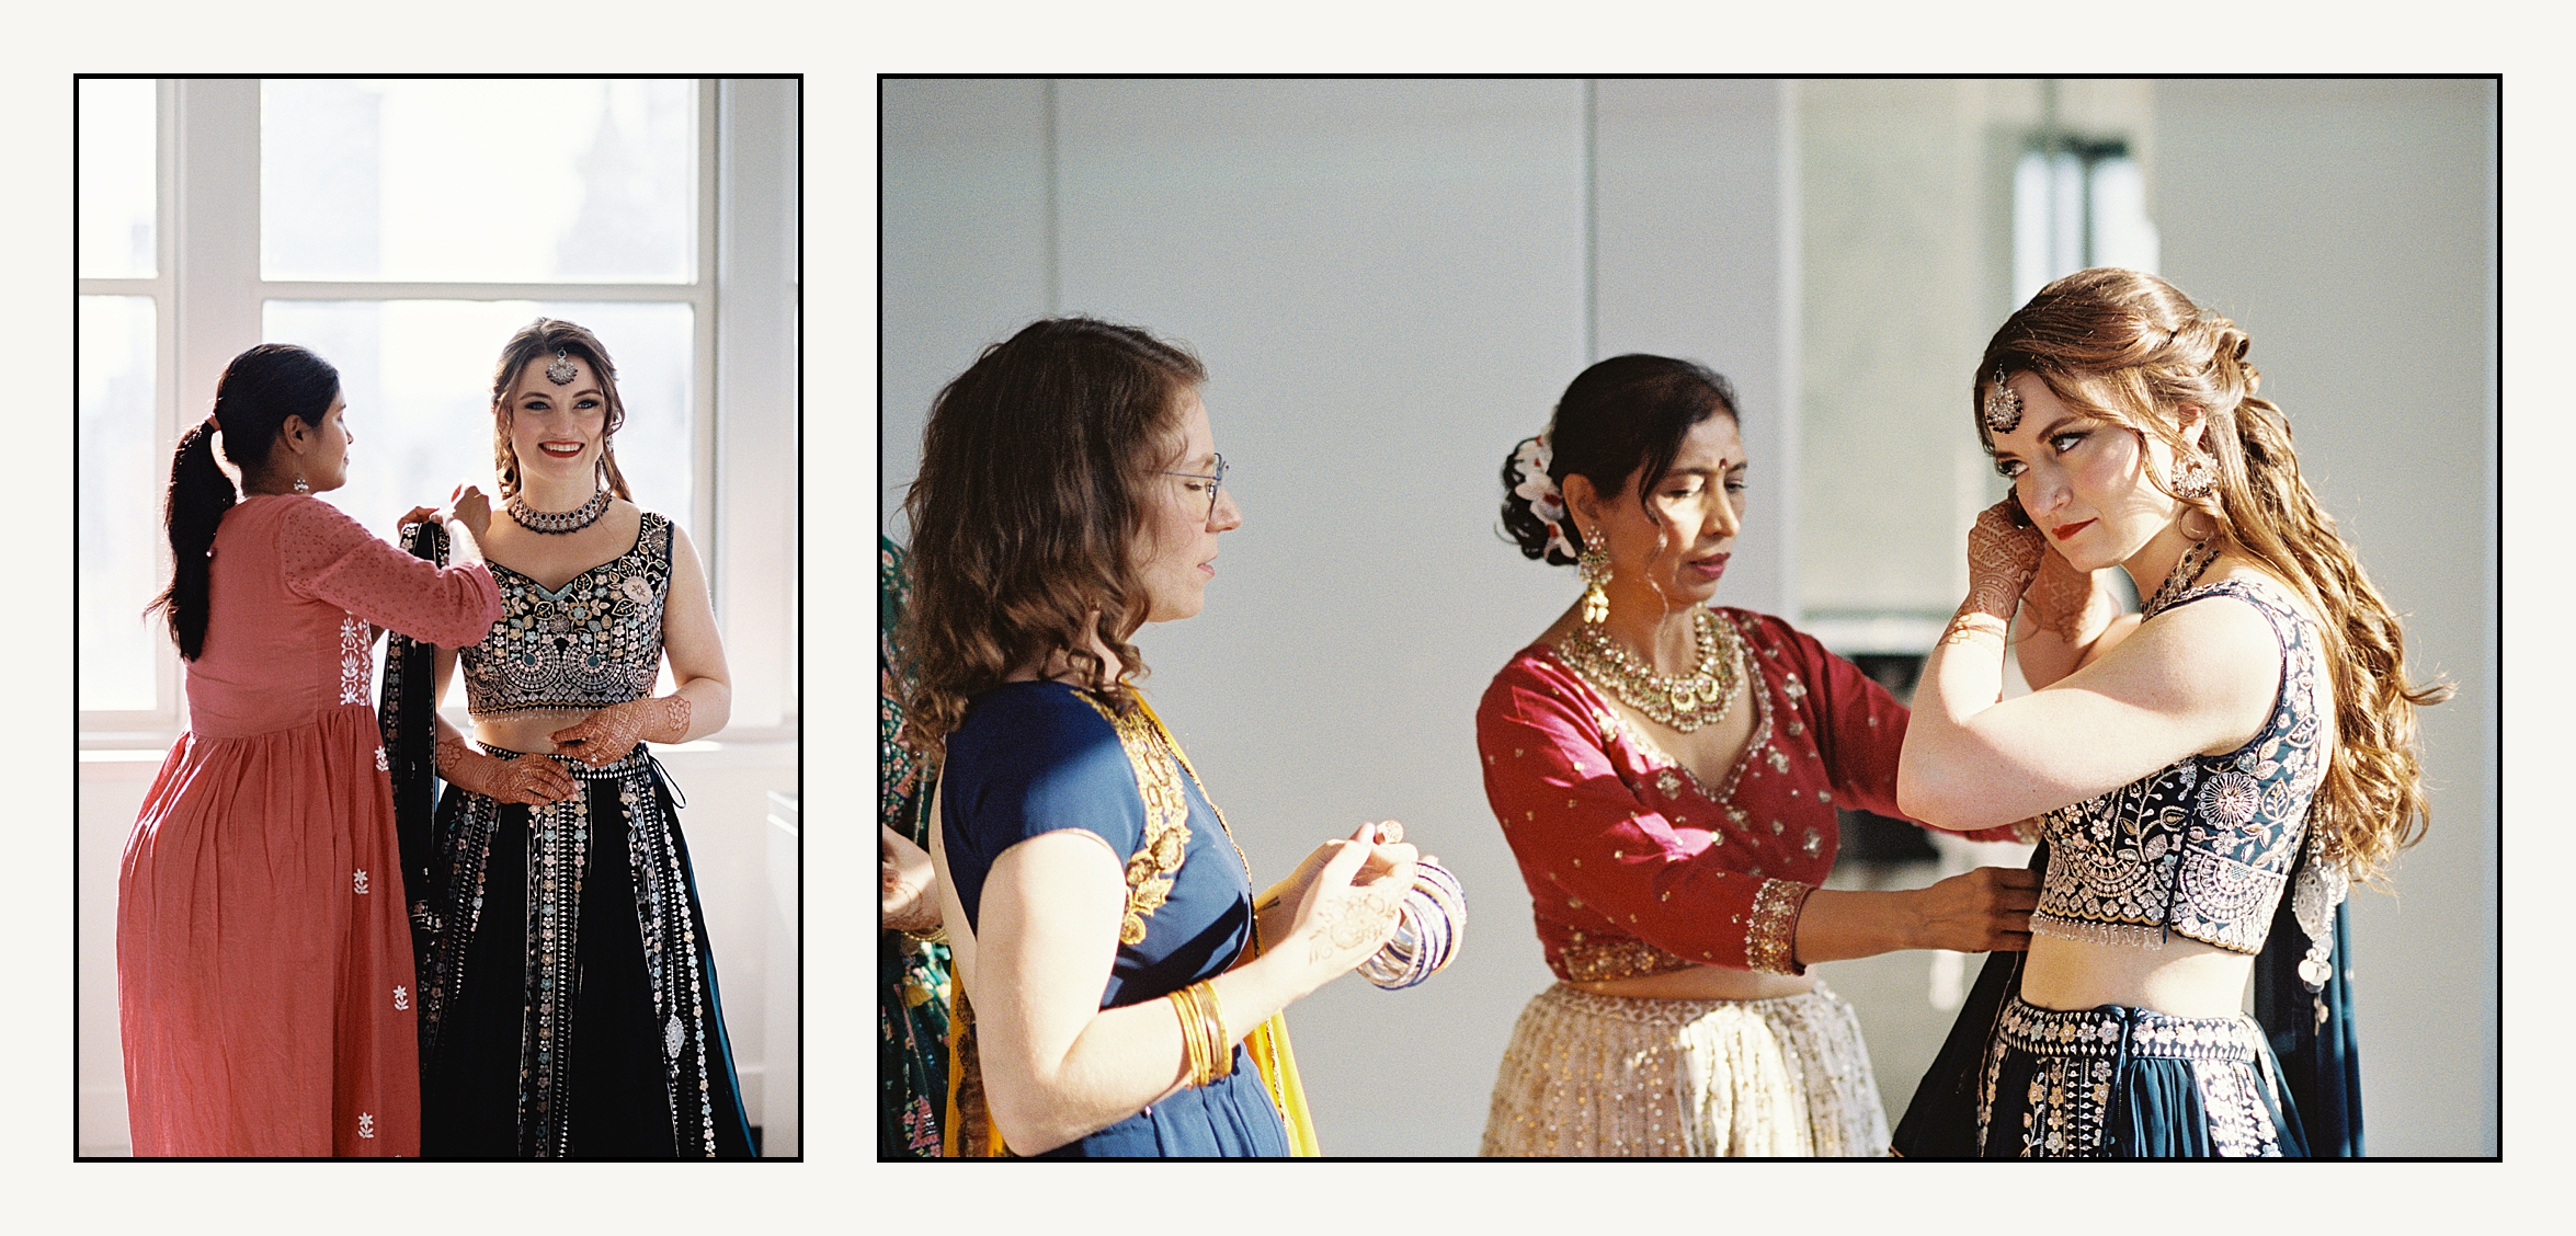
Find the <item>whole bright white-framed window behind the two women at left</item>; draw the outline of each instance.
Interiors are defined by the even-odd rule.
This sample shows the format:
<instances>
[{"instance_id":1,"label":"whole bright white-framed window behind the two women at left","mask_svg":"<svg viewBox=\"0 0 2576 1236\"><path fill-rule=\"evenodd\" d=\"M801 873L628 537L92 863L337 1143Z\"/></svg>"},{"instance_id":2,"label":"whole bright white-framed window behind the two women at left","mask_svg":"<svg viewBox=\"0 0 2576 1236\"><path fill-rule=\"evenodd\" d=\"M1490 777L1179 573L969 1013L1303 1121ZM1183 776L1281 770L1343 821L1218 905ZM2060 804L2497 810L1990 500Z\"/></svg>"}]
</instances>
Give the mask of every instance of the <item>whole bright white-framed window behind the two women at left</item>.
<instances>
[{"instance_id":1,"label":"whole bright white-framed window behind the two women at left","mask_svg":"<svg viewBox=\"0 0 2576 1236\"><path fill-rule=\"evenodd\" d=\"M793 595L793 559L752 548L752 574L726 574L716 456L729 438L714 415L724 312L737 327L793 330L793 82L82 80L77 90L85 736L165 742L183 724L178 657L142 608L170 569L160 523L170 448L206 415L232 355L301 342L340 368L355 445L348 487L325 497L392 533L394 518L443 502L456 482L492 489L492 363L533 317L590 327L618 366L618 466L636 502L688 528L708 566L737 664L737 729L793 724L793 672L775 670L793 657L732 651L793 641L793 618L781 621L793 603L770 595ZM726 270L719 250L734 255ZM786 373L793 391L791 335L737 330L721 348L737 373ZM752 445L726 453L755 476L791 474L793 399L775 381L752 394L732 425ZM744 494L744 520L768 528L742 533L793 543L775 525L793 520L793 497L781 505L770 489ZM760 628L737 631L729 600Z\"/></svg>"}]
</instances>

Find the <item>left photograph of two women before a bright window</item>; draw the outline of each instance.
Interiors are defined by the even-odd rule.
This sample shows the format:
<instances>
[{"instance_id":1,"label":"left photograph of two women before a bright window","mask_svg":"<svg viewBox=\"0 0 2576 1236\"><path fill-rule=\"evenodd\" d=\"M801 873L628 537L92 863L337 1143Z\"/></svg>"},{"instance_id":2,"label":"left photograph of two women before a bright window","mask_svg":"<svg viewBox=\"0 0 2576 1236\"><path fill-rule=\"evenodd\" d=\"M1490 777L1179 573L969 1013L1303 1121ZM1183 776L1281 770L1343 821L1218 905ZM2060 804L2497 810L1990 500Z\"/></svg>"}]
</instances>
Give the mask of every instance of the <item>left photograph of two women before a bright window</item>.
<instances>
[{"instance_id":1,"label":"left photograph of two women before a bright window","mask_svg":"<svg viewBox=\"0 0 2576 1236\"><path fill-rule=\"evenodd\" d=\"M796 77L77 77L80 1159L796 1159Z\"/></svg>"}]
</instances>

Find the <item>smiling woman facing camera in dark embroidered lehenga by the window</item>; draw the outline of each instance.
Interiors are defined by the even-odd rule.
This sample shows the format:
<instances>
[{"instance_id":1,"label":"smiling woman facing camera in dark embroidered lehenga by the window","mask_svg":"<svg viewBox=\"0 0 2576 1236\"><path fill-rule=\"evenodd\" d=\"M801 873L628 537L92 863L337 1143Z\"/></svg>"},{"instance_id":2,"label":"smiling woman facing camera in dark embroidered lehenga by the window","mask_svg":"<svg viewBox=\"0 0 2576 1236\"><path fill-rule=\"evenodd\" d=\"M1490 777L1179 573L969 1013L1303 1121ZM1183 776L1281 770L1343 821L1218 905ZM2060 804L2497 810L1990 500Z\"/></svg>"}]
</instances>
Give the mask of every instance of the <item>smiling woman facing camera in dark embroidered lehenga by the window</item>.
<instances>
[{"instance_id":1,"label":"smiling woman facing camera in dark embroidered lehenga by the window","mask_svg":"<svg viewBox=\"0 0 2576 1236\"><path fill-rule=\"evenodd\" d=\"M724 729L732 688L688 533L618 474L623 420L595 335L541 317L510 337L492 371L507 520L484 543L502 621L386 677L399 726L464 670L474 721L471 739L435 713L412 726L448 783L412 904L430 1156L752 1154L680 798L649 747Z\"/></svg>"}]
</instances>

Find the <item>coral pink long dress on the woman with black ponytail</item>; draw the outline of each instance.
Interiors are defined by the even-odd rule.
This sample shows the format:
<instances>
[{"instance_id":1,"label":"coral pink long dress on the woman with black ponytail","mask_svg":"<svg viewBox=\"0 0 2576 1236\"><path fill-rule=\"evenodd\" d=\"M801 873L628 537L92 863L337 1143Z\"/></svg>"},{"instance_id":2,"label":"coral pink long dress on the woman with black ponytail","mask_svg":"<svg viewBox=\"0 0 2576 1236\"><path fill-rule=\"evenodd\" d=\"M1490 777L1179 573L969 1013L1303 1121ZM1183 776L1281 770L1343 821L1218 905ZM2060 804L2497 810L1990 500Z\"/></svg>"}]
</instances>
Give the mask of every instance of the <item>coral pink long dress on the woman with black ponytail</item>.
<instances>
[{"instance_id":1,"label":"coral pink long dress on the woman with black ponytail","mask_svg":"<svg viewBox=\"0 0 2576 1236\"><path fill-rule=\"evenodd\" d=\"M474 644L500 590L482 566L440 569L289 494L227 510L209 566L188 731L116 881L134 1154L420 1154L371 626Z\"/></svg>"}]
</instances>

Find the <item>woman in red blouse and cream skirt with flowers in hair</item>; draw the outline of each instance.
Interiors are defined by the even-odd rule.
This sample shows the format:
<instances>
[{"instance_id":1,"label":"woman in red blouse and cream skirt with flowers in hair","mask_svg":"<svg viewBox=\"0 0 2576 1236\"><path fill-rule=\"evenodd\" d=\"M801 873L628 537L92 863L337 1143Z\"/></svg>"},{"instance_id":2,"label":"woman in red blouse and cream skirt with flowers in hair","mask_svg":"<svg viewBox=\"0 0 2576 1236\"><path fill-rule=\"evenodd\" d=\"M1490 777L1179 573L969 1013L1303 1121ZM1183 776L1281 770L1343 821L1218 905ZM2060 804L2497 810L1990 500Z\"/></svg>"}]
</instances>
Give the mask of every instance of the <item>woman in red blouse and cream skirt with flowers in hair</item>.
<instances>
[{"instance_id":1,"label":"woman in red blouse and cream skirt with flowers in hair","mask_svg":"<svg viewBox=\"0 0 2576 1236\"><path fill-rule=\"evenodd\" d=\"M1837 803L1899 814L1906 708L1780 618L1708 605L1744 466L1726 379L1659 355L1587 368L1504 464L1504 528L1587 590L1476 706L1558 979L1502 1056L1489 1156L1886 1154L1860 1025L1806 966L2030 945L2027 870L1819 888Z\"/></svg>"}]
</instances>

